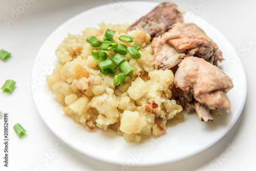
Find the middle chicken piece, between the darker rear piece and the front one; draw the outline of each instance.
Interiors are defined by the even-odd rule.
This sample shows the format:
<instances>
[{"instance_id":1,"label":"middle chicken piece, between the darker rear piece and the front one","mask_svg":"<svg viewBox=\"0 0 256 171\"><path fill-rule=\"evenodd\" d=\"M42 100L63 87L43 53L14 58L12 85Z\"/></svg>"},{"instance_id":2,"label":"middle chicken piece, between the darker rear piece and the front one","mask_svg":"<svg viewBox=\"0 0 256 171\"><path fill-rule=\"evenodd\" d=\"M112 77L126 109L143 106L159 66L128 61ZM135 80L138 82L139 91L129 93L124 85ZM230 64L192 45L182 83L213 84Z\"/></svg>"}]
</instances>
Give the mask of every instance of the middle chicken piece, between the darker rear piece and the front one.
<instances>
[{"instance_id":1,"label":"middle chicken piece, between the darker rear piece and the front one","mask_svg":"<svg viewBox=\"0 0 256 171\"><path fill-rule=\"evenodd\" d=\"M174 48L177 52L162 52L161 49L167 49L166 46ZM176 23L172 29L152 41L152 48L155 61L163 69L173 68L187 56L203 58L215 66L224 60L215 42L194 23Z\"/></svg>"}]
</instances>

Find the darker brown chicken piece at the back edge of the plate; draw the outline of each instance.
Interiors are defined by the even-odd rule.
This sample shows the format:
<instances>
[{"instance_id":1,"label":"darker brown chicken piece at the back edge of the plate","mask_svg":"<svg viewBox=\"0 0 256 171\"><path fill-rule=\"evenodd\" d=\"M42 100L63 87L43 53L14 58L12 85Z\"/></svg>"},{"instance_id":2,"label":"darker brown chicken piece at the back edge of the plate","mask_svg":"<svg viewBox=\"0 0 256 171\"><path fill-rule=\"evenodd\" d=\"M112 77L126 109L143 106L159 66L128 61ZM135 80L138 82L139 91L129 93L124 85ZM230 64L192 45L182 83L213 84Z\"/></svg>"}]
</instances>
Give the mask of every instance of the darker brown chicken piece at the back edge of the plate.
<instances>
[{"instance_id":1,"label":"darker brown chicken piece at the back edge of the plate","mask_svg":"<svg viewBox=\"0 0 256 171\"><path fill-rule=\"evenodd\" d=\"M177 5L164 2L137 20L127 31L138 28L150 34L152 40L154 37L158 37L168 31L177 22L183 22L183 13L178 9Z\"/></svg>"}]
</instances>

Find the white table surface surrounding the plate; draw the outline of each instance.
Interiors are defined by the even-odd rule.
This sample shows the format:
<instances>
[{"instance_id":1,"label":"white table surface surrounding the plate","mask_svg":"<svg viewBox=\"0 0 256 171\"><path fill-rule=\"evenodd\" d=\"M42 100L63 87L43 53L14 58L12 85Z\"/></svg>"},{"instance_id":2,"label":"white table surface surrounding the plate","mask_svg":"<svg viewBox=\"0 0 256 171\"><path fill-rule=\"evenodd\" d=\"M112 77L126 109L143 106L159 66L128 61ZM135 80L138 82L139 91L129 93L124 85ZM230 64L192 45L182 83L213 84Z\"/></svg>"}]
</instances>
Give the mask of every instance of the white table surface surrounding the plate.
<instances>
[{"instance_id":1,"label":"white table surface surrounding the plate","mask_svg":"<svg viewBox=\"0 0 256 171\"><path fill-rule=\"evenodd\" d=\"M63 144L41 120L29 87L35 56L49 34L74 15L111 1L30 0L22 14L8 24L13 10L29 0L0 1L0 49L12 57L0 61L0 85L6 79L17 82L12 94L0 92L0 111L9 113L9 167L4 167L3 115L0 116L0 170L256 170L256 1L173 1L194 12L220 30L241 53L248 93L244 110L232 129L216 144L193 157L157 166L129 167L101 162ZM162 1L151 1L162 2ZM200 7L197 8L197 7ZM248 43L251 42L251 43ZM12 130L15 123L26 127L20 139Z\"/></svg>"}]
</instances>

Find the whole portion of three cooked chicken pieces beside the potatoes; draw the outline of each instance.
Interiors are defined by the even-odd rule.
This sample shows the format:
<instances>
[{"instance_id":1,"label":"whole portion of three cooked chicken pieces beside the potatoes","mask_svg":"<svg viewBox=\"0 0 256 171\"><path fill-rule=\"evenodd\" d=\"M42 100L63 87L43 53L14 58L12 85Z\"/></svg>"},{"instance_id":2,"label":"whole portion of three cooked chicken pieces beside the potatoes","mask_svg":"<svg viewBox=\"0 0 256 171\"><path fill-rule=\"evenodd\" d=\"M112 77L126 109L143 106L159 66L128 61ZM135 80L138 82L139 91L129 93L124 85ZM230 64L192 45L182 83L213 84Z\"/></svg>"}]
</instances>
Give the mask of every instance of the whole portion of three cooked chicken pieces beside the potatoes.
<instances>
[{"instance_id":1,"label":"whole portion of three cooked chicken pieces beside the potatoes","mask_svg":"<svg viewBox=\"0 0 256 171\"><path fill-rule=\"evenodd\" d=\"M183 13L177 5L161 3L128 31L135 29L151 35L159 69L174 71L174 98L188 112L196 111L200 121L212 121L213 111L230 110L226 93L233 83L217 68L224 60L221 50L196 24L183 23Z\"/></svg>"}]
</instances>

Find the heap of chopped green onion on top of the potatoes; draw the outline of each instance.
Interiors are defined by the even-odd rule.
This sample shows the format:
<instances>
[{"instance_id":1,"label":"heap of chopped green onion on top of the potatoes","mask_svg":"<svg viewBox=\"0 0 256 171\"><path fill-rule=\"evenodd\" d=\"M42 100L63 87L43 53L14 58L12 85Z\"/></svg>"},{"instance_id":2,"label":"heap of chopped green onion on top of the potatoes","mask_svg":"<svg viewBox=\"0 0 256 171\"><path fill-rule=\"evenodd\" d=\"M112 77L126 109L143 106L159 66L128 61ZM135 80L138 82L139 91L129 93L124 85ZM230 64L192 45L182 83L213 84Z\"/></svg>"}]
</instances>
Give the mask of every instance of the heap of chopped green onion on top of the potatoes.
<instances>
[{"instance_id":1,"label":"heap of chopped green onion on top of the potatoes","mask_svg":"<svg viewBox=\"0 0 256 171\"><path fill-rule=\"evenodd\" d=\"M115 65L119 66L119 69L123 72L122 74L115 75L114 77L114 86L118 86L121 83L125 82L126 76L130 76L133 74L135 69L130 65L130 63L122 56L126 55L129 52L134 59L139 59L141 54L139 50L141 49L140 45L137 43L132 47L126 47L122 44L117 44L113 37L115 35L114 30L106 29L103 41L97 39L95 36L90 36L87 38L87 42L89 42L93 47L101 46L101 50L92 50L92 56L96 60L104 60L97 62L100 68L100 72L102 74L115 74L116 70L114 68ZM123 42L133 42L134 36L123 34L118 37L120 41ZM113 51L116 53L110 58L105 51Z\"/></svg>"}]
</instances>

